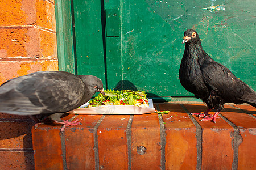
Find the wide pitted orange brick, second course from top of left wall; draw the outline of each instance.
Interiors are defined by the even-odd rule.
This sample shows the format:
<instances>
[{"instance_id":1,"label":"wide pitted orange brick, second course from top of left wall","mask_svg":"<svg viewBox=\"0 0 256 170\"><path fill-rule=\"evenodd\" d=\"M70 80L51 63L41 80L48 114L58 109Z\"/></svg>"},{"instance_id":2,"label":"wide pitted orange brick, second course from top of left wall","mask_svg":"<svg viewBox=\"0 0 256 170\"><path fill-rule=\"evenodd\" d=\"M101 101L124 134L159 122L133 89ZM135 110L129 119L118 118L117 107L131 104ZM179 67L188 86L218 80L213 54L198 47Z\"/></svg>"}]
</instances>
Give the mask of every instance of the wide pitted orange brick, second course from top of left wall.
<instances>
[{"instance_id":1,"label":"wide pitted orange brick, second course from top of left wall","mask_svg":"<svg viewBox=\"0 0 256 170\"><path fill-rule=\"evenodd\" d=\"M28 26L0 29L0 58L48 57L57 58L55 32Z\"/></svg>"}]
</instances>

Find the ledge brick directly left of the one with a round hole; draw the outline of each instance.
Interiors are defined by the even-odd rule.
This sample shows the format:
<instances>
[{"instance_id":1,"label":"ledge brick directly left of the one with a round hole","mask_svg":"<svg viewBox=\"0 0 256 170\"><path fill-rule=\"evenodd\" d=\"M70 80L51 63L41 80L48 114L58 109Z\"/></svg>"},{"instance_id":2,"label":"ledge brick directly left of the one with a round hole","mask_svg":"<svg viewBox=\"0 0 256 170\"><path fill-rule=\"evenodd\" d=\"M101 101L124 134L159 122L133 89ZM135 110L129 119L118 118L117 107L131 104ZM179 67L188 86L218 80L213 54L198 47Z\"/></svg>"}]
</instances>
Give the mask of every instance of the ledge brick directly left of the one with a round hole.
<instances>
[{"instance_id":1,"label":"ledge brick directly left of the one with a round hole","mask_svg":"<svg viewBox=\"0 0 256 170\"><path fill-rule=\"evenodd\" d=\"M129 117L108 115L98 127L100 169L128 169L126 127Z\"/></svg>"}]
</instances>

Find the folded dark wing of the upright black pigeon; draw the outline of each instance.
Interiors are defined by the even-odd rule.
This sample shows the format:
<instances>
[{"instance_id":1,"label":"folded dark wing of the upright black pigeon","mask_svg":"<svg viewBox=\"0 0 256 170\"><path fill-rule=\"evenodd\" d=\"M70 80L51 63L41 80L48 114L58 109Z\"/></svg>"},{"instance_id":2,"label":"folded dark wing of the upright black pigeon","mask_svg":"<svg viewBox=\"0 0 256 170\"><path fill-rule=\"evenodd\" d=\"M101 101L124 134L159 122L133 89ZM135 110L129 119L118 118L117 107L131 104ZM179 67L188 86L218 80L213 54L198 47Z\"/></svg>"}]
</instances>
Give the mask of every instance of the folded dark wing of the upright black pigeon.
<instances>
[{"instance_id":1,"label":"folded dark wing of the upright black pigeon","mask_svg":"<svg viewBox=\"0 0 256 170\"><path fill-rule=\"evenodd\" d=\"M254 103L256 98L246 83L238 79L228 68L215 61L205 60L201 65L205 84L226 102L237 100ZM254 97L253 97L254 96Z\"/></svg>"}]
</instances>

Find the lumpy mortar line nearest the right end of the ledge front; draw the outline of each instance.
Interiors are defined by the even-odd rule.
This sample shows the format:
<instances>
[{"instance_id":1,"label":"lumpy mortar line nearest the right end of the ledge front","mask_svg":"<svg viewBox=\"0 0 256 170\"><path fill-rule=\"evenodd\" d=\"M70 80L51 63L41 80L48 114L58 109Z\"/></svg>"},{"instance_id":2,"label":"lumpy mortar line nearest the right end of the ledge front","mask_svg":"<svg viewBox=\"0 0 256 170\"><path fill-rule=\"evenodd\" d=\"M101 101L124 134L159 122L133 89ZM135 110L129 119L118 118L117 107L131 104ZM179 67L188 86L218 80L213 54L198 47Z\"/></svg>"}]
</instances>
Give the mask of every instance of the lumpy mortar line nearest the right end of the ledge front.
<instances>
[{"instance_id":1,"label":"lumpy mortar line nearest the right end of the ledge front","mask_svg":"<svg viewBox=\"0 0 256 170\"><path fill-rule=\"evenodd\" d=\"M218 114L224 121L226 121L232 128L234 128L234 134L230 134L233 139L232 139L232 148L234 151L233 154L233 162L232 162L232 169L237 169L238 168L238 149L239 149L239 139L242 139L241 135L239 134L239 128L231 121L228 120L225 116L223 116L221 113Z\"/></svg>"}]
</instances>

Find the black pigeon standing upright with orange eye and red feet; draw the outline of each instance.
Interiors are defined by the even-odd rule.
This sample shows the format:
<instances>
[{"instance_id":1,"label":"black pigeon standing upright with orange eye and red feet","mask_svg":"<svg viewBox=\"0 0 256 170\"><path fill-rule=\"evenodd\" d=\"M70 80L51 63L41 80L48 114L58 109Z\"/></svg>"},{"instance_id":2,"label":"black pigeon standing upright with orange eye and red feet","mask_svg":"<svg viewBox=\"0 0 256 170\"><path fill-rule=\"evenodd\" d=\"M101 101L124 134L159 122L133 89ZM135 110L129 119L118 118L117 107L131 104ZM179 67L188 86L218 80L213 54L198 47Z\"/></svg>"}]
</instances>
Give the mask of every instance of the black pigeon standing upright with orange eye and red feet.
<instances>
[{"instance_id":1,"label":"black pigeon standing upright with orange eye and red feet","mask_svg":"<svg viewBox=\"0 0 256 170\"><path fill-rule=\"evenodd\" d=\"M192 114L204 117L201 121L215 122L225 103L247 103L256 107L256 92L205 53L195 30L184 32L184 42L186 45L179 70L180 83L208 106L203 114ZM211 116L208 113L214 108L217 112Z\"/></svg>"}]
</instances>

